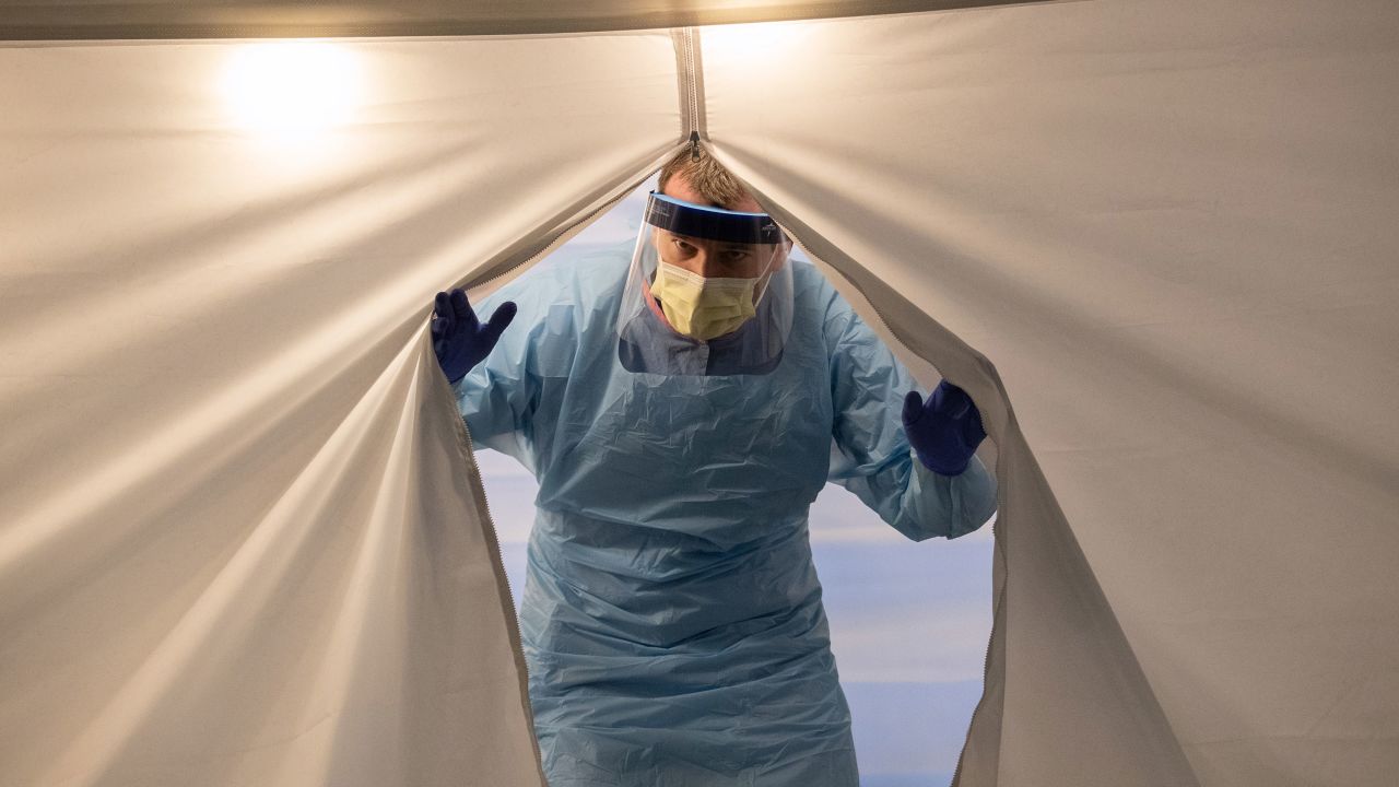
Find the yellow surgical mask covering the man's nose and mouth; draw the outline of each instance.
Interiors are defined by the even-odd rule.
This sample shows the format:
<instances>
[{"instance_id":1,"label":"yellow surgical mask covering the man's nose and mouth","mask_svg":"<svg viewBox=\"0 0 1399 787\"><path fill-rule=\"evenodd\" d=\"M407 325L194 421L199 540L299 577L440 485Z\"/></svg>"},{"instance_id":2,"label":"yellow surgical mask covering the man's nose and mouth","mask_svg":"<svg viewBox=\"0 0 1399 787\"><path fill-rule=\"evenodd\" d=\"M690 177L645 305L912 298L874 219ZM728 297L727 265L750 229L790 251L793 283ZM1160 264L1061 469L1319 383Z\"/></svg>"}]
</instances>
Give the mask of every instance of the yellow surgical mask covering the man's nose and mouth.
<instances>
[{"instance_id":1,"label":"yellow surgical mask covering the man's nose and mouth","mask_svg":"<svg viewBox=\"0 0 1399 787\"><path fill-rule=\"evenodd\" d=\"M706 342L737 330L757 314L757 286L758 279L711 279L662 262L651 294L660 301L672 328Z\"/></svg>"}]
</instances>

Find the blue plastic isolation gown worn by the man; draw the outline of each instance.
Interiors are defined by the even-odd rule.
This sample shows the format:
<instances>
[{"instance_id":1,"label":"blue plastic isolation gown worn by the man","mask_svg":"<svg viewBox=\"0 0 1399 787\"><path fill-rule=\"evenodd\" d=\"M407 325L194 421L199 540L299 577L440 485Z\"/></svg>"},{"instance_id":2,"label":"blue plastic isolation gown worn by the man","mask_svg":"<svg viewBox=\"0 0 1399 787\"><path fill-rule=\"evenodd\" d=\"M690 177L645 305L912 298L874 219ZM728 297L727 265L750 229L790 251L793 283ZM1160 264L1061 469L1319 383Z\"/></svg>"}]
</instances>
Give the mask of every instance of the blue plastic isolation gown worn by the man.
<instances>
[{"instance_id":1,"label":"blue plastic isolation gown worn by the man","mask_svg":"<svg viewBox=\"0 0 1399 787\"><path fill-rule=\"evenodd\" d=\"M484 300L519 315L455 386L473 440L539 479L520 633L548 783L856 787L807 508L830 479L911 539L954 538L995 478L914 458L914 379L809 263L767 374L627 371L630 258Z\"/></svg>"}]
</instances>

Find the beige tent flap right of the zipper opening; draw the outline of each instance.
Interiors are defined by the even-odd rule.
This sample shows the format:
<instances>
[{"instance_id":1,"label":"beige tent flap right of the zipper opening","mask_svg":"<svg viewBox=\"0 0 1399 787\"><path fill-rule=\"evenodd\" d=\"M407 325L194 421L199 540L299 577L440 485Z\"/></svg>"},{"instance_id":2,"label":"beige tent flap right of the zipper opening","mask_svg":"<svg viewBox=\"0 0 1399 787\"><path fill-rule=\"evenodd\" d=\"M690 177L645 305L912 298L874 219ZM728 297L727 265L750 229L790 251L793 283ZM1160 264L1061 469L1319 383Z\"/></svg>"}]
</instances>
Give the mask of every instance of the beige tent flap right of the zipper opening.
<instances>
[{"instance_id":1,"label":"beige tent flap right of the zipper opening","mask_svg":"<svg viewBox=\"0 0 1399 787\"><path fill-rule=\"evenodd\" d=\"M961 784L1391 783L1399 11L702 38L718 154L997 441Z\"/></svg>"}]
</instances>

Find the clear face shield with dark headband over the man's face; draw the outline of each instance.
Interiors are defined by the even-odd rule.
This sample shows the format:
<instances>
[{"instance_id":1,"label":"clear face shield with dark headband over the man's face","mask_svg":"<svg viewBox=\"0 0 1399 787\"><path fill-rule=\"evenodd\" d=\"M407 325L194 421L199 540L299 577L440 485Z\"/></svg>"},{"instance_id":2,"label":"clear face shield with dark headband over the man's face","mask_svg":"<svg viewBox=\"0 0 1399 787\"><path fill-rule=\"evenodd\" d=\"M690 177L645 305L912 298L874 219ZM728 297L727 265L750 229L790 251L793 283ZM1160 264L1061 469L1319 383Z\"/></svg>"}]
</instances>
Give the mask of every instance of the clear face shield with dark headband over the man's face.
<instances>
[{"instance_id":1,"label":"clear face shield with dark headband over the man's face","mask_svg":"<svg viewBox=\"0 0 1399 787\"><path fill-rule=\"evenodd\" d=\"M628 371L767 374L792 330L789 242L765 213L652 192L617 316Z\"/></svg>"}]
</instances>

